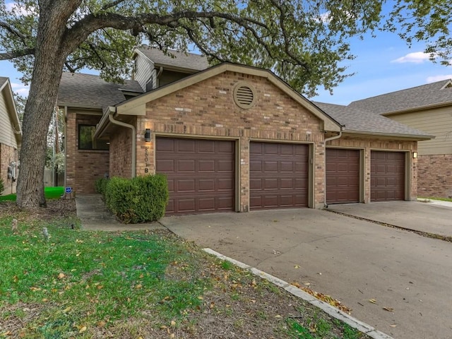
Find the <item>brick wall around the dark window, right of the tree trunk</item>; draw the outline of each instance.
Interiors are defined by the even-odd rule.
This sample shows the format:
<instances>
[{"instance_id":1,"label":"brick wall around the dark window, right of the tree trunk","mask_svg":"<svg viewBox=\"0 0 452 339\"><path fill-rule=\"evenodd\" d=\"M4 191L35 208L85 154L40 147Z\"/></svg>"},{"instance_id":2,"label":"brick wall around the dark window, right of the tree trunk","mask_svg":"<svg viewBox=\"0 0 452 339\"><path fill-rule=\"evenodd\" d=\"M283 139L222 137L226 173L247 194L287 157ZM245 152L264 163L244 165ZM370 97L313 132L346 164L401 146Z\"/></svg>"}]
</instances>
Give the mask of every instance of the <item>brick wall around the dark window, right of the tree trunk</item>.
<instances>
[{"instance_id":1,"label":"brick wall around the dark window, right of the tree trunk","mask_svg":"<svg viewBox=\"0 0 452 339\"><path fill-rule=\"evenodd\" d=\"M108 150L78 150L78 124L100 121L99 115L68 112L66 121L66 186L76 193L95 193L95 180L109 172Z\"/></svg>"}]
</instances>

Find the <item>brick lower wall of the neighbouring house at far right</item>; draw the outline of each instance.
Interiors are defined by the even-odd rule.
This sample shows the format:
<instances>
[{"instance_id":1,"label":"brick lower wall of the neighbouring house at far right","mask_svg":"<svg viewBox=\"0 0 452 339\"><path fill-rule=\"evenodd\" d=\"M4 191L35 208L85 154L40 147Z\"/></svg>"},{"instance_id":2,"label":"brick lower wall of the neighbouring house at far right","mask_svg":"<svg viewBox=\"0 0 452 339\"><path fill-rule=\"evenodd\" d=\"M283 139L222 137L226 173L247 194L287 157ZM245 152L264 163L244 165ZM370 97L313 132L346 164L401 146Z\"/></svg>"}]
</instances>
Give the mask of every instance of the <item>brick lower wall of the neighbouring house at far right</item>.
<instances>
[{"instance_id":1,"label":"brick lower wall of the neighbouring house at far right","mask_svg":"<svg viewBox=\"0 0 452 339\"><path fill-rule=\"evenodd\" d=\"M420 155L417 159L419 196L452 198L452 155Z\"/></svg>"}]
</instances>

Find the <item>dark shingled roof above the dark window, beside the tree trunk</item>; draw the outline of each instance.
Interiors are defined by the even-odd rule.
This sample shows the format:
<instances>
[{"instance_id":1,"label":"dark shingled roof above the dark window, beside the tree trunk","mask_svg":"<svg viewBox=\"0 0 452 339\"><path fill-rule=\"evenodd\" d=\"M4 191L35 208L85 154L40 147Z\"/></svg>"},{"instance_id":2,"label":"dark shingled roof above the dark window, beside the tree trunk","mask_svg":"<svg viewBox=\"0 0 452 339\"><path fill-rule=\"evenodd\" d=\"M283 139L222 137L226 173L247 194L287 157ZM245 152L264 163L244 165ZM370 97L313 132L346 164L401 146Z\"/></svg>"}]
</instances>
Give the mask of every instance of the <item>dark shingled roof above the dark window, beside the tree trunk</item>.
<instances>
[{"instance_id":1,"label":"dark shingled roof above the dark window, beside the tree trunk","mask_svg":"<svg viewBox=\"0 0 452 339\"><path fill-rule=\"evenodd\" d=\"M141 86L133 80L108 83L100 76L64 72L58 90L58 105L98 108L113 106L126 100L122 90L143 93Z\"/></svg>"}]
</instances>

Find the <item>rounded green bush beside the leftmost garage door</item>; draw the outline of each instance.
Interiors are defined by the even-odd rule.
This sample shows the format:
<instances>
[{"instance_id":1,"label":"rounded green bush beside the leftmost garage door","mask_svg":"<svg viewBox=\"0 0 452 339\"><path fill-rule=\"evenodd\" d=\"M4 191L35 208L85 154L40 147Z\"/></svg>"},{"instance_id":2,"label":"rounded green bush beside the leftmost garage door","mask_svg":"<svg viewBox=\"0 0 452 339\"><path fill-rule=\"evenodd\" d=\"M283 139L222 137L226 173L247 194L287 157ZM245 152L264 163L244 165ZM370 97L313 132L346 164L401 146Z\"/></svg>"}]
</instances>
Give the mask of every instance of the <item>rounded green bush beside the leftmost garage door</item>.
<instances>
[{"instance_id":1,"label":"rounded green bush beside the leftmost garage door","mask_svg":"<svg viewBox=\"0 0 452 339\"><path fill-rule=\"evenodd\" d=\"M113 177L105 189L105 203L126 224L156 221L165 215L167 178L153 174L133 179Z\"/></svg>"}]
</instances>

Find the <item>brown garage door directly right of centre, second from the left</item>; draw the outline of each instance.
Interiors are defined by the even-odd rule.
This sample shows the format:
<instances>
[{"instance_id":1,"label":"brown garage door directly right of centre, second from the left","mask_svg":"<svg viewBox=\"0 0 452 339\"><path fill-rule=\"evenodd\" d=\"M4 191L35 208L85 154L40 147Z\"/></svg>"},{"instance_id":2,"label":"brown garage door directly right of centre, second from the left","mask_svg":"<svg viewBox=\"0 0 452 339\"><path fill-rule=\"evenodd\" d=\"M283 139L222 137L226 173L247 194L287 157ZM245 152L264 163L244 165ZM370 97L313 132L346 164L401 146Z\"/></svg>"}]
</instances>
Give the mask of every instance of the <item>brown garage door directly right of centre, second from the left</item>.
<instances>
[{"instance_id":1,"label":"brown garage door directly right of centre, second from the left","mask_svg":"<svg viewBox=\"0 0 452 339\"><path fill-rule=\"evenodd\" d=\"M307 206L308 145L249 145L250 209Z\"/></svg>"}]
</instances>

